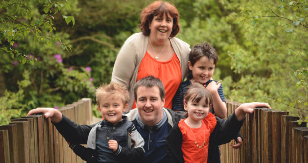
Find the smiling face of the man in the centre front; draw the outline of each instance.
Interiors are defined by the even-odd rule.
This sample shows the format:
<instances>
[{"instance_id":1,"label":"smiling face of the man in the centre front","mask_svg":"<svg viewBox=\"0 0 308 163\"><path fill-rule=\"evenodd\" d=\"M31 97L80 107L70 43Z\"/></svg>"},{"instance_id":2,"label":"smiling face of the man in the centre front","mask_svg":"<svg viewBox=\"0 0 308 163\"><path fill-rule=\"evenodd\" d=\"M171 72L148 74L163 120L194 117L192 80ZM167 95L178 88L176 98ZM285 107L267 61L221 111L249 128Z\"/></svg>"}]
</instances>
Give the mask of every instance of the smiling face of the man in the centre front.
<instances>
[{"instance_id":1,"label":"smiling face of the man in the centre front","mask_svg":"<svg viewBox=\"0 0 308 163\"><path fill-rule=\"evenodd\" d=\"M160 98L158 86L140 86L137 89L136 107L141 121L152 127L160 122L163 116L165 99Z\"/></svg>"}]
</instances>

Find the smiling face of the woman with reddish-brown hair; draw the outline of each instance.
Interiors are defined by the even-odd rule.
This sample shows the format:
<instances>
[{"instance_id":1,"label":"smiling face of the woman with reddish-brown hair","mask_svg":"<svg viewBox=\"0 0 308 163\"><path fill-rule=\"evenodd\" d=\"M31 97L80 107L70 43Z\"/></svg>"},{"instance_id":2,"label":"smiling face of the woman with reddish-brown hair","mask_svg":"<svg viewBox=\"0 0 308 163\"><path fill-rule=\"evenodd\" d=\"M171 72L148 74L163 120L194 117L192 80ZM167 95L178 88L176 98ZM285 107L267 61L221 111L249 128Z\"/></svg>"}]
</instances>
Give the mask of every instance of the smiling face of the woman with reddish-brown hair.
<instances>
[{"instance_id":1,"label":"smiling face of the woman with reddish-brown hair","mask_svg":"<svg viewBox=\"0 0 308 163\"><path fill-rule=\"evenodd\" d=\"M168 14L157 15L153 17L152 22L149 24L150 38L164 41L169 38L173 27L173 19Z\"/></svg>"}]
</instances>

